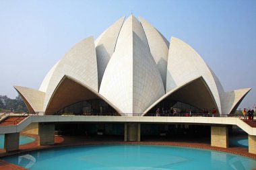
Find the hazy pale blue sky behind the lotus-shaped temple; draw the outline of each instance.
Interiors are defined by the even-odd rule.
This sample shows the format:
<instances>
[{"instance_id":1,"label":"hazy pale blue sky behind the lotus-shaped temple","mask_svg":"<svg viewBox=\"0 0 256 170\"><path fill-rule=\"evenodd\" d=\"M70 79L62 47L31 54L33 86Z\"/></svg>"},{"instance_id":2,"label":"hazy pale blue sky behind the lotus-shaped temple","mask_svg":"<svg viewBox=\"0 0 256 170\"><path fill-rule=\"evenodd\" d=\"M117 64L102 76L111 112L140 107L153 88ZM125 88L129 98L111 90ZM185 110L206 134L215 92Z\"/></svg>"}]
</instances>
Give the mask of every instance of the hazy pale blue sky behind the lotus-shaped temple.
<instances>
[{"instance_id":1,"label":"hazy pale blue sky behind the lotus-shaped temple","mask_svg":"<svg viewBox=\"0 0 256 170\"><path fill-rule=\"evenodd\" d=\"M239 108L256 103L256 1L12 1L0 0L0 95L13 85L38 89L75 43L122 16L143 17L167 40L195 48L225 91L253 88Z\"/></svg>"}]
</instances>

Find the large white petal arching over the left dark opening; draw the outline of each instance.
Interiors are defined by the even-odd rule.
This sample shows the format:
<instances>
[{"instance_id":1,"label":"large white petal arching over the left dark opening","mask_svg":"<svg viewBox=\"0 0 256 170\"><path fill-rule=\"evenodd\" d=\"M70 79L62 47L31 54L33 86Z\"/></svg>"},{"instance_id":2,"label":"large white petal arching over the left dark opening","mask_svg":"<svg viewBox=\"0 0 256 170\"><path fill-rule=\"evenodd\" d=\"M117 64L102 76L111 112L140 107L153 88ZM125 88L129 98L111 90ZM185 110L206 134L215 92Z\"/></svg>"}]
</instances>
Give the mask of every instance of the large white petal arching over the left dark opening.
<instances>
[{"instance_id":1,"label":"large white petal arching over the left dark opening","mask_svg":"<svg viewBox=\"0 0 256 170\"><path fill-rule=\"evenodd\" d=\"M59 61L49 81L44 99L44 110L59 81L67 75L81 81L94 91L98 91L98 71L94 38L86 38L75 44Z\"/></svg>"}]
</instances>

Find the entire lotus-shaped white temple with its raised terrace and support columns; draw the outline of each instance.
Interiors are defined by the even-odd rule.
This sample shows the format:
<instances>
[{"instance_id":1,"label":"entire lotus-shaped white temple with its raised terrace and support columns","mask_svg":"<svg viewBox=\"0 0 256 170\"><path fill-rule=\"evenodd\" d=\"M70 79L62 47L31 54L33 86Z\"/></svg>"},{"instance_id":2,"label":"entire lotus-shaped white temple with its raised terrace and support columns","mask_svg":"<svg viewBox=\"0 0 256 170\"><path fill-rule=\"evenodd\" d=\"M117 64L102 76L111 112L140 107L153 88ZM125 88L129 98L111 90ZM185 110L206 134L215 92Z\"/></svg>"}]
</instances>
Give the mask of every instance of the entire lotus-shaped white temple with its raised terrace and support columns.
<instances>
[{"instance_id":1,"label":"entire lotus-shaped white temple with its raised terrace and support columns","mask_svg":"<svg viewBox=\"0 0 256 170\"><path fill-rule=\"evenodd\" d=\"M166 40L142 17L121 17L96 40L77 42L39 89L14 88L29 114L0 126L6 152L18 151L21 132L37 134L45 146L55 144L56 134L111 134L139 142L180 129L205 130L210 146L228 148L228 130L236 126L247 133L249 153L256 154L256 125L233 116L251 88L224 91L189 44Z\"/></svg>"}]
</instances>

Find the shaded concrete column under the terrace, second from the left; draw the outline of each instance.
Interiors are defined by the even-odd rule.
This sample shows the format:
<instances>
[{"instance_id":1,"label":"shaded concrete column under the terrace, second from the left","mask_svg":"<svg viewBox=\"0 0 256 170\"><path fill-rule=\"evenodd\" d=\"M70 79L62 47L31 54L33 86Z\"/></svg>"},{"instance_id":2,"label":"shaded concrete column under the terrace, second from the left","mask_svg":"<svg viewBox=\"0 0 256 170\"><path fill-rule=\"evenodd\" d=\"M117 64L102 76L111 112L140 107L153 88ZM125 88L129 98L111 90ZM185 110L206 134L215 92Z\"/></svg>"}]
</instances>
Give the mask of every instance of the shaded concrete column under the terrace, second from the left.
<instances>
[{"instance_id":1,"label":"shaded concrete column under the terrace, second from the left","mask_svg":"<svg viewBox=\"0 0 256 170\"><path fill-rule=\"evenodd\" d=\"M38 124L39 144L55 144L54 142L55 124Z\"/></svg>"}]
</instances>

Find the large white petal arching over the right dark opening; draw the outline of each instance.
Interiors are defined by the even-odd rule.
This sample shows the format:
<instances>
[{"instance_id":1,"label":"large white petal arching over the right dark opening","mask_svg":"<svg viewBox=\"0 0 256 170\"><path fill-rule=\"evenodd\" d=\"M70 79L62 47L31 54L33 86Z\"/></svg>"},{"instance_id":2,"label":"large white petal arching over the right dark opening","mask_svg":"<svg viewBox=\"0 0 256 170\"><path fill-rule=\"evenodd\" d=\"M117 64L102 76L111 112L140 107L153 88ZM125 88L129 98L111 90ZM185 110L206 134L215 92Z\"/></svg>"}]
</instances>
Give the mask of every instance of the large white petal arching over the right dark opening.
<instances>
[{"instance_id":1,"label":"large white petal arching over the right dark opening","mask_svg":"<svg viewBox=\"0 0 256 170\"><path fill-rule=\"evenodd\" d=\"M188 79L194 79L199 76L205 79L218 106L218 112L222 114L218 87L209 67L191 46L178 38L172 37L168 55L166 93L182 85Z\"/></svg>"}]
</instances>

